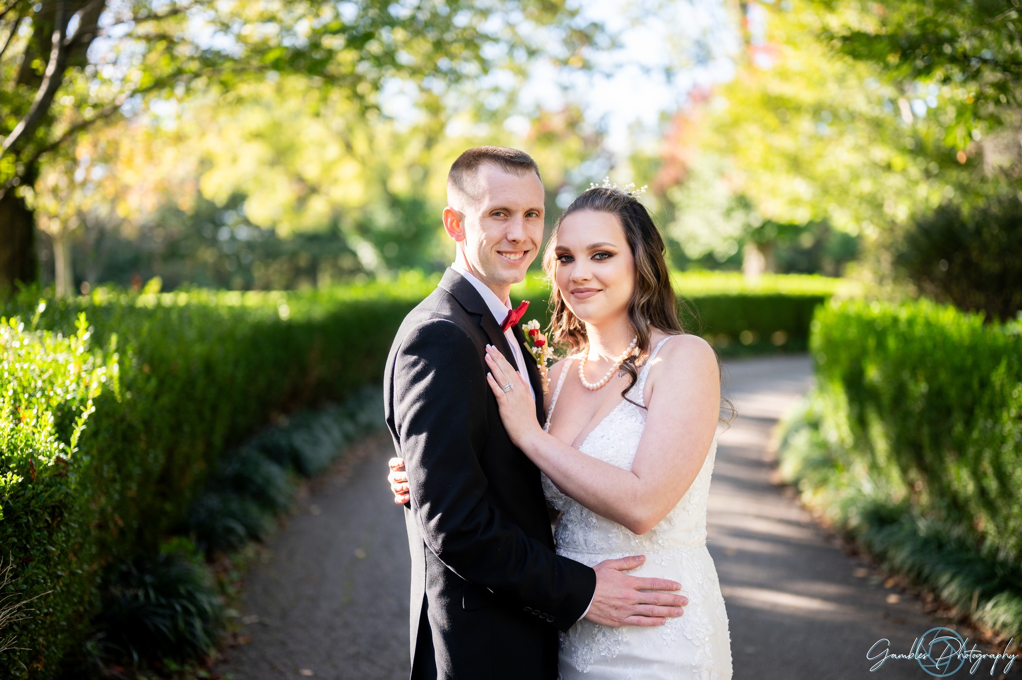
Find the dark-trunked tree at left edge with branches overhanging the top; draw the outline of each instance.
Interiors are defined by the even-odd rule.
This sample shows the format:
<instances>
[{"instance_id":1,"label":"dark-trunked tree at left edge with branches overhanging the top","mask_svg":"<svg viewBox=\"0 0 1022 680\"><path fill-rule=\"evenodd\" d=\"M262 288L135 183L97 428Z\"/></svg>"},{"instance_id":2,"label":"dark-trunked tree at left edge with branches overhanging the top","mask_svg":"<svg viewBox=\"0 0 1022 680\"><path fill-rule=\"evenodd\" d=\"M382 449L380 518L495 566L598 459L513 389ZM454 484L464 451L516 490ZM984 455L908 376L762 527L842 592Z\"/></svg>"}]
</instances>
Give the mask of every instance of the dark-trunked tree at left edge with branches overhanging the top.
<instances>
[{"instance_id":1,"label":"dark-trunked tree at left edge with branches overhanging the top","mask_svg":"<svg viewBox=\"0 0 1022 680\"><path fill-rule=\"evenodd\" d=\"M361 115L390 83L443 93L495 69L520 71L552 38L545 27L575 56L594 29L573 17L561 0L9 0L0 8L0 285L35 277L24 188L47 153L100 120L284 76L342 93Z\"/></svg>"}]
</instances>

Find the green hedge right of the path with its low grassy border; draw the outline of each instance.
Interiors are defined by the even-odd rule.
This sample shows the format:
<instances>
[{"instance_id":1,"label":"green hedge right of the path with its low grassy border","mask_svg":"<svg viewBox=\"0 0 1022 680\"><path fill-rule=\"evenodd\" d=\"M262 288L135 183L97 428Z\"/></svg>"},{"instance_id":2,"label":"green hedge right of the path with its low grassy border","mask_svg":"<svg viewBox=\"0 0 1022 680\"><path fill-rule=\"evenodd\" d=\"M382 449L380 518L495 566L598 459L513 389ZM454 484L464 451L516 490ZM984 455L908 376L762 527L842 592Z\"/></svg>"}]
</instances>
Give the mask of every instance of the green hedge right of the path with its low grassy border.
<instances>
[{"instance_id":1,"label":"green hedge right of the path with its low grassy border","mask_svg":"<svg viewBox=\"0 0 1022 680\"><path fill-rule=\"evenodd\" d=\"M812 326L817 386L782 473L891 567L1022 632L1020 325L845 301Z\"/></svg>"}]
</instances>

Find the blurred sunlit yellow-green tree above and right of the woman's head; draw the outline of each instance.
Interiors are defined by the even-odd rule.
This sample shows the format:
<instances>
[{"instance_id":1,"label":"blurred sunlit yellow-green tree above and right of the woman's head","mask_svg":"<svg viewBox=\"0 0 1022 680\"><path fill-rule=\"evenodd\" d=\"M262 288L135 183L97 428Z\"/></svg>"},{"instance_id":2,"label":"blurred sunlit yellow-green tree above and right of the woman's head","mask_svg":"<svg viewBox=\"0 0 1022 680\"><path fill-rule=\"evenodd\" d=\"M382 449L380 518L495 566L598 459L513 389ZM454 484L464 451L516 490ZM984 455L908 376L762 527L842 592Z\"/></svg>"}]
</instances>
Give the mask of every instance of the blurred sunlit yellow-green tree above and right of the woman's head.
<instances>
[{"instance_id":1,"label":"blurred sunlit yellow-green tree above and right of the woman's head","mask_svg":"<svg viewBox=\"0 0 1022 680\"><path fill-rule=\"evenodd\" d=\"M769 259L762 226L828 223L869 242L974 191L973 168L945 145L949 93L837 49L832 36L861 22L857 4L746 7L757 20L736 77L676 122L684 148L671 153L693 182L666 192L676 238L698 232L692 248L704 252L744 242ZM696 188L714 181L715 192Z\"/></svg>"}]
</instances>

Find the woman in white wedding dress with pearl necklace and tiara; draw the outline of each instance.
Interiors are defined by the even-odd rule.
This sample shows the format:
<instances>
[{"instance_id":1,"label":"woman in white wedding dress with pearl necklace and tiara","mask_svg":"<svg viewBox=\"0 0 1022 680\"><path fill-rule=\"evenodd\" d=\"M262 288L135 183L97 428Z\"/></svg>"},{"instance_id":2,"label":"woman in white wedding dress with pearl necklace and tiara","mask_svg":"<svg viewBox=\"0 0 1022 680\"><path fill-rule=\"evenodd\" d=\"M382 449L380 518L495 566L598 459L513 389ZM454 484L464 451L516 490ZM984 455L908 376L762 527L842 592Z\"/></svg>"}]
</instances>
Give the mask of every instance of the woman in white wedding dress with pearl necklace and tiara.
<instances>
[{"instance_id":1,"label":"woman in white wedding dress with pearl necklace and tiara","mask_svg":"<svg viewBox=\"0 0 1022 680\"><path fill-rule=\"evenodd\" d=\"M487 381L512 441L543 471L561 513L557 552L589 566L645 554L635 576L682 583L685 615L660 627L582 620L562 634L562 680L727 680L728 617L706 549L719 418L716 356L678 321L664 245L646 207L617 188L580 194L544 255L555 343L541 427L526 383L496 348ZM523 389L504 391L509 381Z\"/></svg>"}]
</instances>

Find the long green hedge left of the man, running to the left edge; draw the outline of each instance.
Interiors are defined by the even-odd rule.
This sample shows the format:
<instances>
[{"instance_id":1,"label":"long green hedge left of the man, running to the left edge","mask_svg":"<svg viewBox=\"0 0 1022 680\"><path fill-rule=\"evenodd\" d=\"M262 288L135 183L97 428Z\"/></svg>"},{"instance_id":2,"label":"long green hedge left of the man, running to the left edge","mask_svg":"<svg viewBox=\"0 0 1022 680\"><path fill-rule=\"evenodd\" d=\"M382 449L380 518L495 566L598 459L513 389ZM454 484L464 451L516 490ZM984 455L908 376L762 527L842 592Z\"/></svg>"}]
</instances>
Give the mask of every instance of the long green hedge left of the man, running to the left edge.
<instances>
[{"instance_id":1,"label":"long green hedge left of the man, running to the left edge","mask_svg":"<svg viewBox=\"0 0 1022 680\"><path fill-rule=\"evenodd\" d=\"M31 293L0 307L24 320L5 326L0 347L0 549L15 577L3 594L39 596L0 630L0 646L15 637L20 647L0 652L0 668L57 674L89 633L104 570L156 552L229 445L277 414L378 381L398 325L430 289L405 280L289 294L99 290L51 303L39 325L53 333L33 331ZM82 312L91 338L75 335ZM100 370L119 385L91 395L95 414L72 452Z\"/></svg>"}]
</instances>

